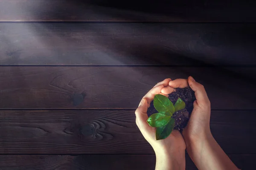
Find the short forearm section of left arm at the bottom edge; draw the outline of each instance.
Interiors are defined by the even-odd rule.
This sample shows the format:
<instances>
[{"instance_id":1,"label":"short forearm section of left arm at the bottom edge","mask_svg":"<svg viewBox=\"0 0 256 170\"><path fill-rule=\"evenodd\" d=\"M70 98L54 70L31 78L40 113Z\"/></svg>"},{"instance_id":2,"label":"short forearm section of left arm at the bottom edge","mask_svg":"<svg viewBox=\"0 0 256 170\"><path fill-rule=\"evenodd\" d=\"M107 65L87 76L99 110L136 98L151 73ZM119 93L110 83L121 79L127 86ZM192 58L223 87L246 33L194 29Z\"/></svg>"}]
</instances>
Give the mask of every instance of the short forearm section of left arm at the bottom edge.
<instances>
[{"instance_id":1,"label":"short forearm section of left arm at the bottom edge","mask_svg":"<svg viewBox=\"0 0 256 170\"><path fill-rule=\"evenodd\" d=\"M185 150L178 153L156 153L155 170L185 170Z\"/></svg>"}]
</instances>

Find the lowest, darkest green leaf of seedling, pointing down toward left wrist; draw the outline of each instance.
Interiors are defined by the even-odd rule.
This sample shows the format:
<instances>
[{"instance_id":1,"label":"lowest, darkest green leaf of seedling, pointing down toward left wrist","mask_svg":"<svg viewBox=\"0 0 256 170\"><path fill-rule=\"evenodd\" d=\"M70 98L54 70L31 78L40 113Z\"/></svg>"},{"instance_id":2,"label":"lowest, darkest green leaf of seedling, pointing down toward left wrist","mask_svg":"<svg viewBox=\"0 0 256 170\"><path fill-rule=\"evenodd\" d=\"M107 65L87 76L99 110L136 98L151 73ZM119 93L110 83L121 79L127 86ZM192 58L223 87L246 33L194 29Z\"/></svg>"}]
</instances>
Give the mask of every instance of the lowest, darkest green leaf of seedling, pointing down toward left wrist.
<instances>
[{"instance_id":1,"label":"lowest, darkest green leaf of seedling, pointing down toward left wrist","mask_svg":"<svg viewBox=\"0 0 256 170\"><path fill-rule=\"evenodd\" d=\"M175 120L171 118L171 120L168 122L167 125L162 127L157 127L156 139L157 140L166 139L172 133L174 125L175 125Z\"/></svg>"}]
</instances>

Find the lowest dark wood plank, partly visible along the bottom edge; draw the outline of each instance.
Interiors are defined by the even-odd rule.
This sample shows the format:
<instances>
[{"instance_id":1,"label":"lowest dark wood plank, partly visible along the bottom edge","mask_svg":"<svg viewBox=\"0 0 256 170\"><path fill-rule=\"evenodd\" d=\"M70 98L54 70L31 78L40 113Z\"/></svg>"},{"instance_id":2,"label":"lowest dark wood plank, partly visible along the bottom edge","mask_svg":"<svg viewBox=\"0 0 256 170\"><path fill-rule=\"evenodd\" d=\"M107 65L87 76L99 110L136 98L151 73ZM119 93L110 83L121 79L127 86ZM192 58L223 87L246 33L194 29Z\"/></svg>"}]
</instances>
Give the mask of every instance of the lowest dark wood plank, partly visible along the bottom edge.
<instances>
[{"instance_id":1,"label":"lowest dark wood plank, partly visible along the bottom edge","mask_svg":"<svg viewBox=\"0 0 256 170\"><path fill-rule=\"evenodd\" d=\"M255 154L231 154L242 170L255 167ZM154 170L154 155L0 155L1 170ZM197 170L186 155L186 170Z\"/></svg>"}]
</instances>

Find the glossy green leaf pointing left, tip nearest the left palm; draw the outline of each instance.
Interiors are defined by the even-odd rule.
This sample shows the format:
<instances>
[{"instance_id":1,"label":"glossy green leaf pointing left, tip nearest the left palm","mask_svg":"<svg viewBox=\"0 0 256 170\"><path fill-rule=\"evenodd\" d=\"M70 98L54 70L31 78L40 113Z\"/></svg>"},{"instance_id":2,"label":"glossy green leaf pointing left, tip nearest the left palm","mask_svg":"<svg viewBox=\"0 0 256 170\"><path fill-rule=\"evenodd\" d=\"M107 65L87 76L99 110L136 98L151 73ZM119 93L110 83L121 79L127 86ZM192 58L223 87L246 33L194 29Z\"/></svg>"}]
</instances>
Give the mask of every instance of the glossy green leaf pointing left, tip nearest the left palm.
<instances>
[{"instance_id":1,"label":"glossy green leaf pointing left, tip nearest the left palm","mask_svg":"<svg viewBox=\"0 0 256 170\"><path fill-rule=\"evenodd\" d=\"M171 119L171 116L168 116L163 113L154 113L151 116L149 116L147 122L148 125L152 127L161 127L166 125Z\"/></svg>"}]
</instances>

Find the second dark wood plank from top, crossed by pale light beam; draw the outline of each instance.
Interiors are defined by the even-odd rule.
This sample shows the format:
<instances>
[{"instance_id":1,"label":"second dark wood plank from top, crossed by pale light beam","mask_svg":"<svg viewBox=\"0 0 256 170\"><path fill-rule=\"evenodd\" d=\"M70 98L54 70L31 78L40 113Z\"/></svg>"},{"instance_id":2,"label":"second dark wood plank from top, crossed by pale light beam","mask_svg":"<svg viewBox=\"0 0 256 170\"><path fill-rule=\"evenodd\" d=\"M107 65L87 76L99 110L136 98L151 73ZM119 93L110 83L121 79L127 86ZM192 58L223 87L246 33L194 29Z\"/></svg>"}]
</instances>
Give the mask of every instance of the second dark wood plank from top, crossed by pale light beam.
<instances>
[{"instance_id":1,"label":"second dark wood plank from top, crossed by pale light beam","mask_svg":"<svg viewBox=\"0 0 256 170\"><path fill-rule=\"evenodd\" d=\"M0 23L0 65L255 66L254 30L256 24Z\"/></svg>"}]
</instances>

